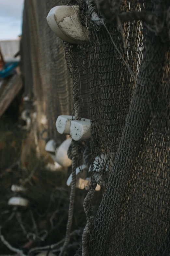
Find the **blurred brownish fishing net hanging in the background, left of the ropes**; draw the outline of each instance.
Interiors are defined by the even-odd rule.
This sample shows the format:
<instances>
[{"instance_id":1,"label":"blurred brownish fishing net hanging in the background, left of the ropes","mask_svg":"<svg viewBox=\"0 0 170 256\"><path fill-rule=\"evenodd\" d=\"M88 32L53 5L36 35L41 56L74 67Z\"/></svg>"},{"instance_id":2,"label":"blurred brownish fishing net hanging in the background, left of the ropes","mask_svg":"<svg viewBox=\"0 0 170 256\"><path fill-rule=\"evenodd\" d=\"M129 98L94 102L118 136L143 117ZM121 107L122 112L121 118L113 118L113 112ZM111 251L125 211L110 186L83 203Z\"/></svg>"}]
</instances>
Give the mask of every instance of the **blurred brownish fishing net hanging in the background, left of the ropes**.
<instances>
[{"instance_id":1,"label":"blurred brownish fishing net hanging in the background, left of the ropes","mask_svg":"<svg viewBox=\"0 0 170 256\"><path fill-rule=\"evenodd\" d=\"M58 1L58 5L61 4L62 1ZM72 114L73 103L72 81L65 63L63 41L50 30L46 19L48 12L55 5L56 1L48 1L47 6L45 1L41 4L37 1L25 1L23 34L27 37L22 36L22 47L25 58L23 62L27 68L24 72L25 87L26 91L30 90L32 79L39 132L43 129L40 125L42 115L46 114L49 139L54 139L60 145L64 137L58 134L55 122L59 115ZM27 48L28 41L30 49ZM30 70L28 65L32 67Z\"/></svg>"}]
</instances>

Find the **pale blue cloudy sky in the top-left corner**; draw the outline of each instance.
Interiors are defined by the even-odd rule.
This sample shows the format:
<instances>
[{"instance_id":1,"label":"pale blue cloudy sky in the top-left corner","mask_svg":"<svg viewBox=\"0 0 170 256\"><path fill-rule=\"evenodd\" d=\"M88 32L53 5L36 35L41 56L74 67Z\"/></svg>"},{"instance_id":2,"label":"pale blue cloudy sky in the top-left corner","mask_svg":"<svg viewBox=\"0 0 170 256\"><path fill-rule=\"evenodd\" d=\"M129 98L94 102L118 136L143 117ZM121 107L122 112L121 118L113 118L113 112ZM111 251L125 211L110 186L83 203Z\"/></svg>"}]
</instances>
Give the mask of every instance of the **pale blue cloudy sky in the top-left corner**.
<instances>
[{"instance_id":1,"label":"pale blue cloudy sky in the top-left corner","mask_svg":"<svg viewBox=\"0 0 170 256\"><path fill-rule=\"evenodd\" d=\"M21 35L24 0L0 0L0 40L17 39Z\"/></svg>"}]
</instances>

